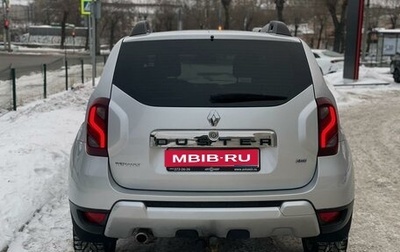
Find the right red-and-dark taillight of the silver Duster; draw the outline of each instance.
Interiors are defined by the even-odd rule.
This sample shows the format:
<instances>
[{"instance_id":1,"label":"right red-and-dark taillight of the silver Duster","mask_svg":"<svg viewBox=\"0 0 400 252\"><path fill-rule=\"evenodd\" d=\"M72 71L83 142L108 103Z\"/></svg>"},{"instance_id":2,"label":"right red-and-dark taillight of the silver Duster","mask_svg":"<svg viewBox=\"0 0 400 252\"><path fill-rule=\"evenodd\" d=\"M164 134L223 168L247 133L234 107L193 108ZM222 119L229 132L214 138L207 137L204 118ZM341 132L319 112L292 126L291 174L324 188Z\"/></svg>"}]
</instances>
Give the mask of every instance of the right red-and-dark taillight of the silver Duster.
<instances>
[{"instance_id":1,"label":"right red-and-dark taillight of the silver Duster","mask_svg":"<svg viewBox=\"0 0 400 252\"><path fill-rule=\"evenodd\" d=\"M339 127L336 108L328 98L318 98L318 156L335 155L339 146Z\"/></svg>"}]
</instances>

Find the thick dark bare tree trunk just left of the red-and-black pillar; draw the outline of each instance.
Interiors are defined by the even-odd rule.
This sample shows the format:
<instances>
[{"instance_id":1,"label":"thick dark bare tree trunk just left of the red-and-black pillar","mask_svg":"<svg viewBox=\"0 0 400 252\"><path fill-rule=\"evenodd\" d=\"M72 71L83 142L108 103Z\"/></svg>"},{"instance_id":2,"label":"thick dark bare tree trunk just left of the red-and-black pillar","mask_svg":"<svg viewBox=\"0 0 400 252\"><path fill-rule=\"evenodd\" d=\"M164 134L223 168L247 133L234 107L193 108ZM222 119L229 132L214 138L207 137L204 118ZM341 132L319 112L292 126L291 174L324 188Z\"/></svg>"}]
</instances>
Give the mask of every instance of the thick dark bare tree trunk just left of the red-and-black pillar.
<instances>
[{"instance_id":1,"label":"thick dark bare tree trunk just left of the red-and-black pillar","mask_svg":"<svg viewBox=\"0 0 400 252\"><path fill-rule=\"evenodd\" d=\"M325 3L335 27L333 50L343 52L348 0L325 0Z\"/></svg>"}]
</instances>

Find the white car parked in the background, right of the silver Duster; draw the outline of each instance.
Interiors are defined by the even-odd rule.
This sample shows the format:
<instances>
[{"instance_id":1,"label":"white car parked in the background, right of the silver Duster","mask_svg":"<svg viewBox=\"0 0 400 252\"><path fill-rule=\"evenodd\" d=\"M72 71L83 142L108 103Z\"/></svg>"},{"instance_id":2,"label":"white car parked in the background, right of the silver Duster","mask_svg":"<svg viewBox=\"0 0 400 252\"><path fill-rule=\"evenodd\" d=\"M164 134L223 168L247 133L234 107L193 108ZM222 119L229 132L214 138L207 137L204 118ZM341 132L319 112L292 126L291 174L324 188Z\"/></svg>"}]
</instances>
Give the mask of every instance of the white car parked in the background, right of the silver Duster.
<instances>
[{"instance_id":1,"label":"white car parked in the background, right of the silver Duster","mask_svg":"<svg viewBox=\"0 0 400 252\"><path fill-rule=\"evenodd\" d=\"M329 74L343 69L344 55L330 50L313 49L314 57L322 74Z\"/></svg>"}]
</instances>

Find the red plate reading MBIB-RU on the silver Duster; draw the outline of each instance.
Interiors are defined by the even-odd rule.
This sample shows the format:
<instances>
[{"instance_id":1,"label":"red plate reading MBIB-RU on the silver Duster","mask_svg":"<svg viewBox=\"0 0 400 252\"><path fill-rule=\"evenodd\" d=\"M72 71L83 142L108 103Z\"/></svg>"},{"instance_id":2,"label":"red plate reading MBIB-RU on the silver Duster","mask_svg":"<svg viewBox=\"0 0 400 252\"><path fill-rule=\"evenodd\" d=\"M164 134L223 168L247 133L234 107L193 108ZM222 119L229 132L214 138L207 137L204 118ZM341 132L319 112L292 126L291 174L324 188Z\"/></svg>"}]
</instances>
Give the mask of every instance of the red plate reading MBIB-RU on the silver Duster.
<instances>
[{"instance_id":1,"label":"red plate reading MBIB-RU on the silver Duster","mask_svg":"<svg viewBox=\"0 0 400 252\"><path fill-rule=\"evenodd\" d=\"M167 149L164 165L178 172L257 172L259 156L259 149Z\"/></svg>"}]
</instances>

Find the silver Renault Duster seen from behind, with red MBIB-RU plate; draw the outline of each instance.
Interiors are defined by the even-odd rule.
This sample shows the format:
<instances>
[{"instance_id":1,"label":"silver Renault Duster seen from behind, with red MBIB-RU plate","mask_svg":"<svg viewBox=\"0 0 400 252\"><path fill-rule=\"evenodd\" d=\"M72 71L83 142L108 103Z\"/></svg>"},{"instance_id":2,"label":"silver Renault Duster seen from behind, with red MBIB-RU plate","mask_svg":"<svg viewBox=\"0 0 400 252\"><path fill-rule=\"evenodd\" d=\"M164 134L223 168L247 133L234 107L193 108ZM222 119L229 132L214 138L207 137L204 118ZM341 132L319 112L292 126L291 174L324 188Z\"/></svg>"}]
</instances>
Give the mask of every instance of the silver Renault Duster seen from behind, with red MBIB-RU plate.
<instances>
[{"instance_id":1,"label":"silver Renault Duster seen from behind, with red MBIB-RU plate","mask_svg":"<svg viewBox=\"0 0 400 252\"><path fill-rule=\"evenodd\" d=\"M276 235L346 251L351 153L306 43L277 21L132 34L112 49L72 147L75 251Z\"/></svg>"}]
</instances>

